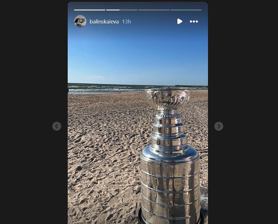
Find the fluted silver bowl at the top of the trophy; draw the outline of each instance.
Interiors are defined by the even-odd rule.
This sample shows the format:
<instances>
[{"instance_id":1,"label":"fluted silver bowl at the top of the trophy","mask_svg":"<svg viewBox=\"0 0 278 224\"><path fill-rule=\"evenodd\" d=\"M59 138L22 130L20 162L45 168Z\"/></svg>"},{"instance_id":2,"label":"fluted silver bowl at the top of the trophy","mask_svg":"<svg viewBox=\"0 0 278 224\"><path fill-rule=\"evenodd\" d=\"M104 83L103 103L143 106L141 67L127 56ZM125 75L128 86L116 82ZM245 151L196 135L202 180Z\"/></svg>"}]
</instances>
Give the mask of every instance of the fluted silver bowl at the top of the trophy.
<instances>
[{"instance_id":1,"label":"fluted silver bowl at the top of the trophy","mask_svg":"<svg viewBox=\"0 0 278 224\"><path fill-rule=\"evenodd\" d=\"M147 89L148 104L159 111L176 111L184 107L190 96L191 88Z\"/></svg>"}]
</instances>

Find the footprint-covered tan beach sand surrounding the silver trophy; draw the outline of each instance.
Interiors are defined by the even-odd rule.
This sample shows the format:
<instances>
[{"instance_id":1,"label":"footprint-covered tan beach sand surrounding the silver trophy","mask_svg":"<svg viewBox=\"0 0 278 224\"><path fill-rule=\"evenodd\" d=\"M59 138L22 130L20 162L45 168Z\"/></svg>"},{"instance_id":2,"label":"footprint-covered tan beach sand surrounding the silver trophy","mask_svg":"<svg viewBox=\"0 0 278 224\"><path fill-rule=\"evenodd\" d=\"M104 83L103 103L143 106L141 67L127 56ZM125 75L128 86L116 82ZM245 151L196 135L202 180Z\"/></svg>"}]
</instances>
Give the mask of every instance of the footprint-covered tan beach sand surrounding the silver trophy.
<instances>
[{"instance_id":1,"label":"footprint-covered tan beach sand surrounding the silver trophy","mask_svg":"<svg viewBox=\"0 0 278 224\"><path fill-rule=\"evenodd\" d=\"M192 91L178 112L208 187L208 91ZM68 223L139 223L139 154L156 113L143 92L68 95Z\"/></svg>"}]
</instances>

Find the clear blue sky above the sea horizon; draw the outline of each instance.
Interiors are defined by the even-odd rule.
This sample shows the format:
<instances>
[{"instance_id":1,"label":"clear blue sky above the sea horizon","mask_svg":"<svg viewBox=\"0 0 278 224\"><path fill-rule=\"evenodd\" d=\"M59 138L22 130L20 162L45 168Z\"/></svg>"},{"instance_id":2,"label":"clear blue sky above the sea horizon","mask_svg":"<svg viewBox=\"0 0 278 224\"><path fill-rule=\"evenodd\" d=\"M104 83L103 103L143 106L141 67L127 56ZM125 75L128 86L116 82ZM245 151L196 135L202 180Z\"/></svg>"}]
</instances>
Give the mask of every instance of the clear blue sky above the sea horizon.
<instances>
[{"instance_id":1,"label":"clear blue sky above the sea horizon","mask_svg":"<svg viewBox=\"0 0 278 224\"><path fill-rule=\"evenodd\" d=\"M202 11L74 11L74 9L202 9ZM77 15L87 24L76 27ZM177 19L183 20L177 24ZM90 24L90 19L119 24ZM131 24L123 24L129 19ZM198 23L189 23L198 20ZM207 3L68 4L68 82L207 85Z\"/></svg>"}]
</instances>

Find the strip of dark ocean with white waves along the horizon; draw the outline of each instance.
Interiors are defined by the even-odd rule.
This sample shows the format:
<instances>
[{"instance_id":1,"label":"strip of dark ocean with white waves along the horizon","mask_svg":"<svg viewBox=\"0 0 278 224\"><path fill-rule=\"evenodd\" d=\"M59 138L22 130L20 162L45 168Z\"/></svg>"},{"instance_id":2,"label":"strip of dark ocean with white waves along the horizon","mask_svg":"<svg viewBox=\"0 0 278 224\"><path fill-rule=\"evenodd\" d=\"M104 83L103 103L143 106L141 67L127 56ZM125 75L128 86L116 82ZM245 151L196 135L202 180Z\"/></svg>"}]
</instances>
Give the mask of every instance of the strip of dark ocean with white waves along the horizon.
<instances>
[{"instance_id":1,"label":"strip of dark ocean with white waves along the horizon","mask_svg":"<svg viewBox=\"0 0 278 224\"><path fill-rule=\"evenodd\" d=\"M132 93L142 92L146 89L169 87L191 87L192 90L208 89L208 86L155 86L155 85L116 85L116 84L89 84L68 83L69 94L99 94L99 93Z\"/></svg>"}]
</instances>

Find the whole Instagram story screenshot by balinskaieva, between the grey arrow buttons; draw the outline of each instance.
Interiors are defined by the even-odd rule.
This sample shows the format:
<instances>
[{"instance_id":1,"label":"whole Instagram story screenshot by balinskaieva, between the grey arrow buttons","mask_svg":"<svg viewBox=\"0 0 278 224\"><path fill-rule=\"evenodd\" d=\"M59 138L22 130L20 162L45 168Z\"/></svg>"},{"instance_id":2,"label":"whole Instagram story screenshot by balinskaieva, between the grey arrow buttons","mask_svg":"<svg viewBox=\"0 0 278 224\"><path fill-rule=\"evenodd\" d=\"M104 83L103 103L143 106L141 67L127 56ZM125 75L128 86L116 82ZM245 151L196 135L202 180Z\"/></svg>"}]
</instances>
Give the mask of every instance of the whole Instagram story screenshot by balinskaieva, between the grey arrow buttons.
<instances>
[{"instance_id":1,"label":"whole Instagram story screenshot by balinskaieva, between the grey arrow buttons","mask_svg":"<svg viewBox=\"0 0 278 224\"><path fill-rule=\"evenodd\" d=\"M68 3L68 223L207 218L207 17L206 2ZM170 150L186 157L173 174Z\"/></svg>"}]
</instances>

